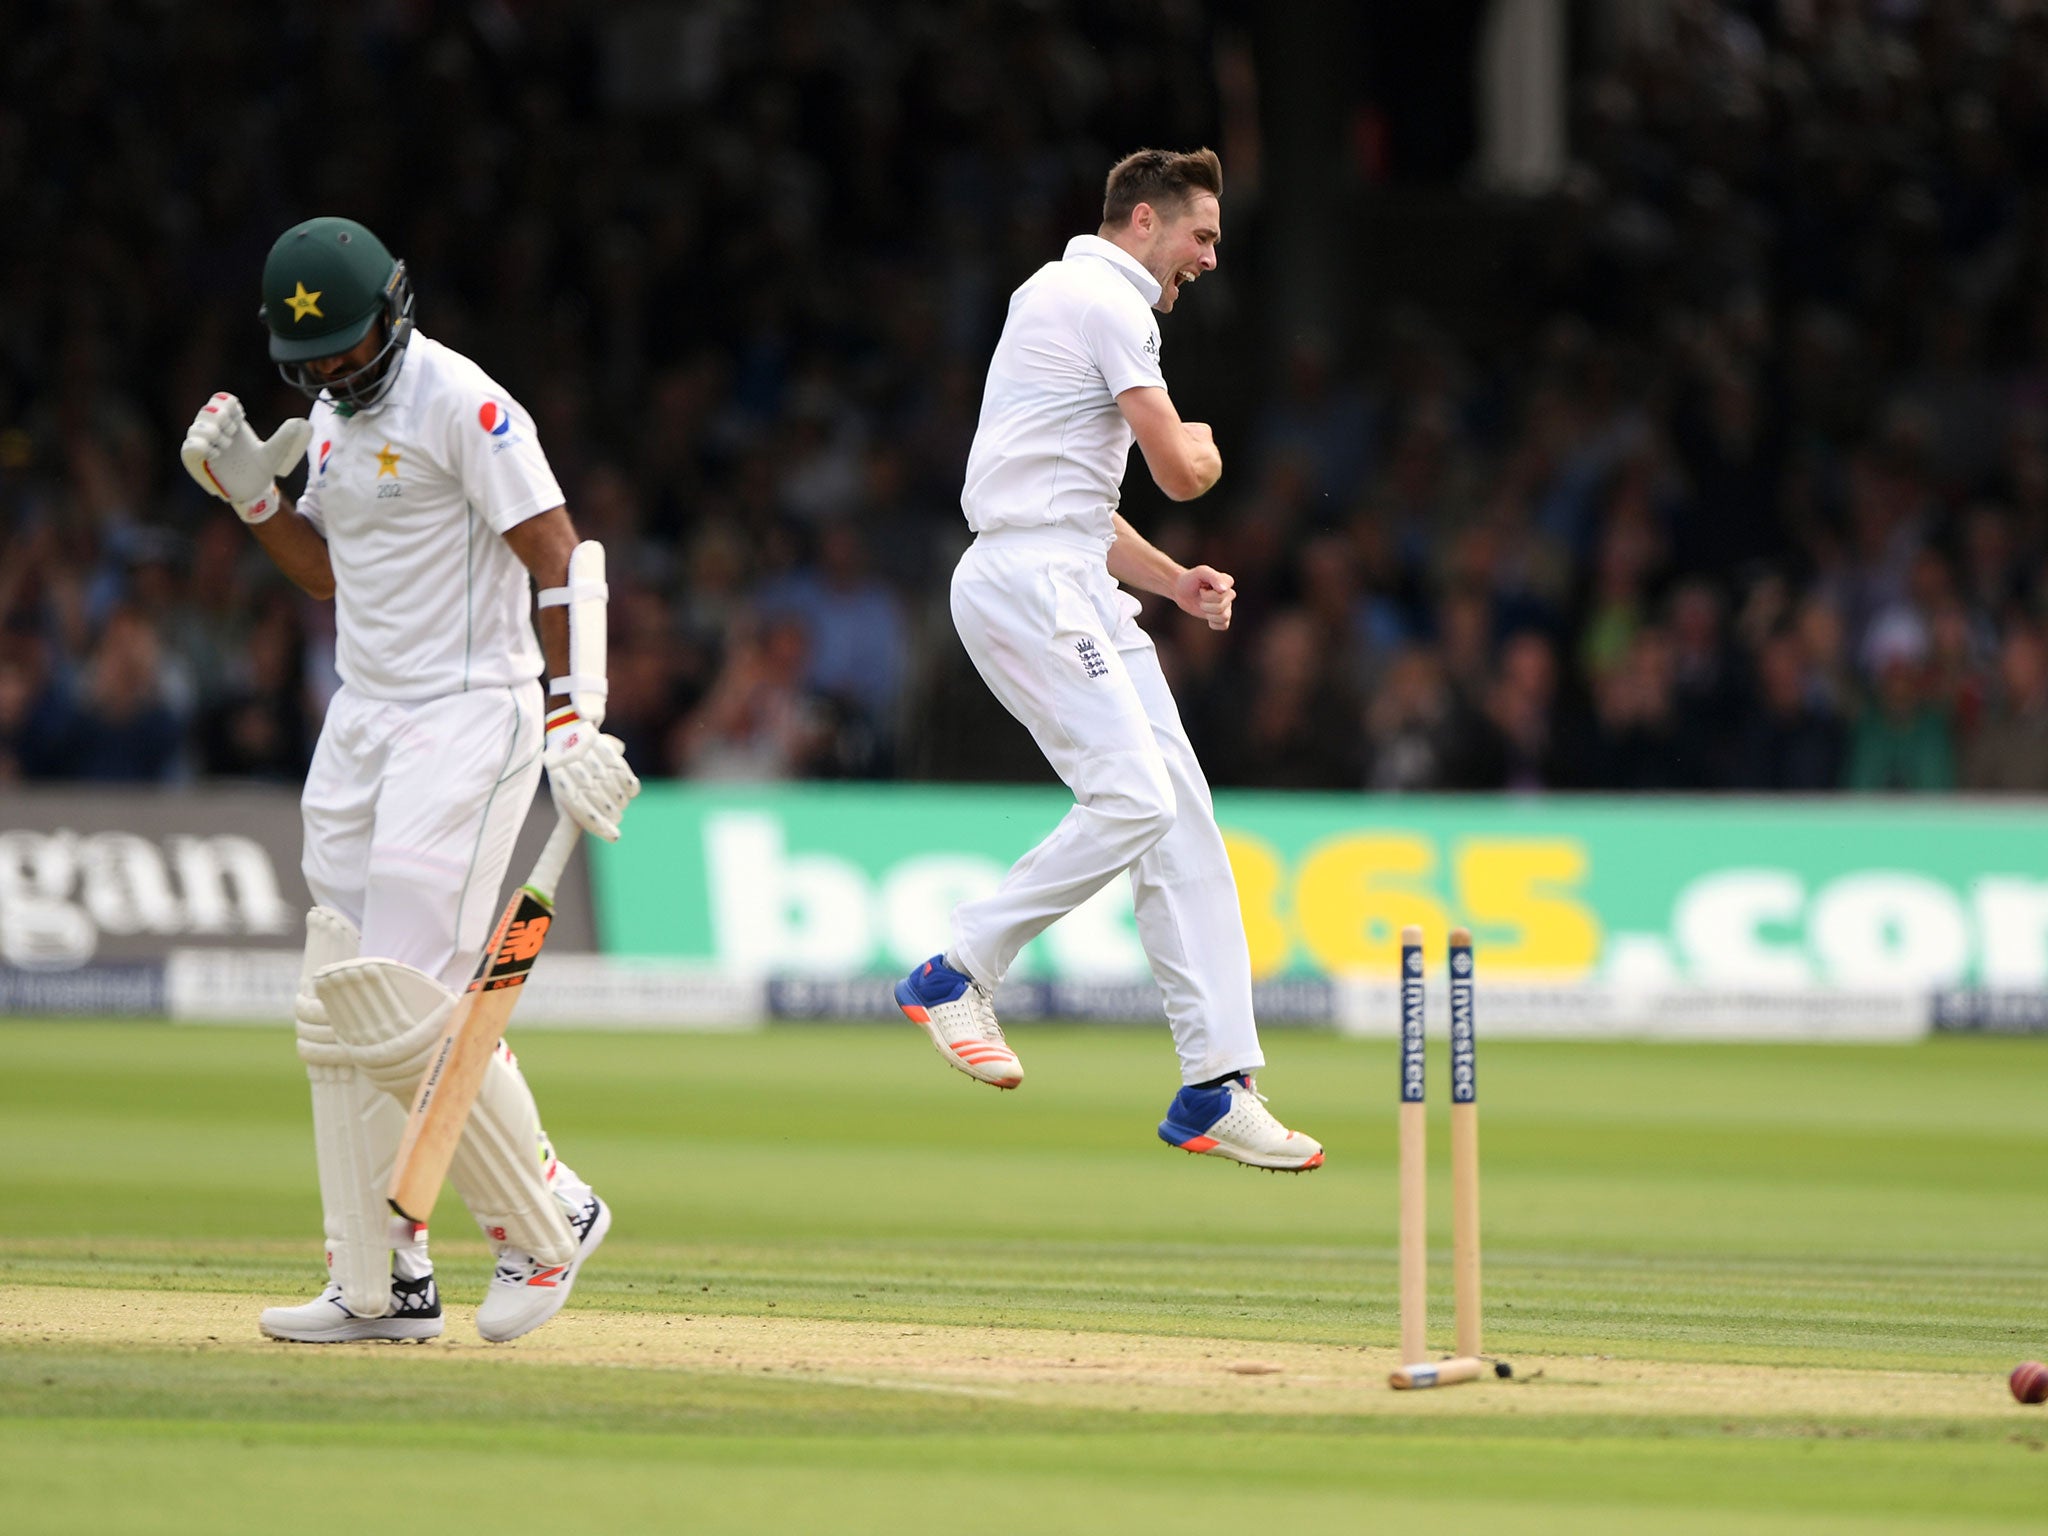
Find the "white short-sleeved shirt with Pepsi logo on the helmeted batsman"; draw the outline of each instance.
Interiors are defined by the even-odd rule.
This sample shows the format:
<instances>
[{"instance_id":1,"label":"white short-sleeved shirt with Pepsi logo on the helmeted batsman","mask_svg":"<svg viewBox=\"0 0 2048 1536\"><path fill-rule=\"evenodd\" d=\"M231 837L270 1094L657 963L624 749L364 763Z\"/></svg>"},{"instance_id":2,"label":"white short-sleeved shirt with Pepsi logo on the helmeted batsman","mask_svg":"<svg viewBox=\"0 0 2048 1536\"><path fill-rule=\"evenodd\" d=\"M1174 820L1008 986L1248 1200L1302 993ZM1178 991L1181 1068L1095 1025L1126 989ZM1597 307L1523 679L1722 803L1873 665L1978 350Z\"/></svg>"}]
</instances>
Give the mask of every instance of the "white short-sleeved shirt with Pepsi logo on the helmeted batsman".
<instances>
[{"instance_id":1,"label":"white short-sleeved shirt with Pepsi logo on the helmeted batsman","mask_svg":"<svg viewBox=\"0 0 2048 1536\"><path fill-rule=\"evenodd\" d=\"M502 535L563 496L518 401L414 332L375 410L319 399L311 422L299 514L328 541L342 682L412 700L539 678L526 567Z\"/></svg>"}]
</instances>

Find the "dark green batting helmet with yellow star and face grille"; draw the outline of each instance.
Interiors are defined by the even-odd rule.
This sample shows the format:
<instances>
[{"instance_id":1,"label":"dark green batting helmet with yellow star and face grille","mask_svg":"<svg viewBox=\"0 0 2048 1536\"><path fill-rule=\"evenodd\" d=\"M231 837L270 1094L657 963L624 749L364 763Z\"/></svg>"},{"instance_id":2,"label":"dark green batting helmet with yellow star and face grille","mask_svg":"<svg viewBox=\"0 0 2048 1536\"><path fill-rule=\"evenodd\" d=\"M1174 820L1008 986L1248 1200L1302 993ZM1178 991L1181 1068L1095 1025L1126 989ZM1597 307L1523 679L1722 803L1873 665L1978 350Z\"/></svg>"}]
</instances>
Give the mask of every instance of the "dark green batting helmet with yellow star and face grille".
<instances>
[{"instance_id":1,"label":"dark green batting helmet with yellow star and face grille","mask_svg":"<svg viewBox=\"0 0 2048 1536\"><path fill-rule=\"evenodd\" d=\"M307 219L270 246L258 313L285 383L309 399L326 393L342 410L367 410L397 381L412 340L412 279L406 262L354 219ZM336 379L305 371L356 346L379 319L385 342L360 369Z\"/></svg>"}]
</instances>

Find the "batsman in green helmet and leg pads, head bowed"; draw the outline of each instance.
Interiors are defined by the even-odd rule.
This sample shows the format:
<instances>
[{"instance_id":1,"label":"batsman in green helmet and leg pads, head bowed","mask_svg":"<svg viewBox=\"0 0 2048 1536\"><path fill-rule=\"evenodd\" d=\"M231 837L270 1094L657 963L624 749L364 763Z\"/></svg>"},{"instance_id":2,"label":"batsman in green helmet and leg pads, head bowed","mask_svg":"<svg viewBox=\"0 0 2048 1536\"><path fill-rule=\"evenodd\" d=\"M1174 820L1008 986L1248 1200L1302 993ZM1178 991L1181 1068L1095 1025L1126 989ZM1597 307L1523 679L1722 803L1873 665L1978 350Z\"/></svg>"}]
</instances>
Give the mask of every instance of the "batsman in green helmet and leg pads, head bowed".
<instances>
[{"instance_id":1,"label":"batsman in green helmet and leg pads, head bowed","mask_svg":"<svg viewBox=\"0 0 2048 1536\"><path fill-rule=\"evenodd\" d=\"M213 395L182 459L291 582L334 598L342 688L301 801L315 905L295 1006L328 1286L260 1325L303 1343L430 1339L426 1229L383 1200L428 1051L498 913L541 768L598 838L618 838L639 793L600 731L602 551L578 545L532 418L414 326L406 264L360 223L287 229L262 322L309 416L260 438L240 399ZM295 506L276 481L309 446ZM610 1208L555 1155L510 1049L451 1180L496 1251L477 1331L516 1339L561 1311Z\"/></svg>"}]
</instances>

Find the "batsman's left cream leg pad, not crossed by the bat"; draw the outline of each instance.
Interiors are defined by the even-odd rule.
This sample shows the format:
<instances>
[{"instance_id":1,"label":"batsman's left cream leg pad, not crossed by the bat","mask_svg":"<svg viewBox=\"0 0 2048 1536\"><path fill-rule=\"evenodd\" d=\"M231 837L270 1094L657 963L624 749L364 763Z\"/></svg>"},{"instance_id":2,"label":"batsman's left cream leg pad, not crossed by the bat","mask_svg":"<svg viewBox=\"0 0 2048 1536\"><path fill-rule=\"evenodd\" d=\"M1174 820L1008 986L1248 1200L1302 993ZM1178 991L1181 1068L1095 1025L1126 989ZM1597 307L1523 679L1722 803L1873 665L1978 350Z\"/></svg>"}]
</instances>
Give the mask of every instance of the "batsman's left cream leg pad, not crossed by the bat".
<instances>
[{"instance_id":1,"label":"batsman's left cream leg pad, not crossed by the bat","mask_svg":"<svg viewBox=\"0 0 2048 1536\"><path fill-rule=\"evenodd\" d=\"M328 1278L342 1288L342 1305L356 1317L383 1317L391 1311L391 1223L383 1192L406 1135L406 1112L356 1071L313 989L313 973L354 958L356 946L356 926L342 913L332 907L305 913L293 1026L313 1085L313 1163L319 1169Z\"/></svg>"}]
</instances>

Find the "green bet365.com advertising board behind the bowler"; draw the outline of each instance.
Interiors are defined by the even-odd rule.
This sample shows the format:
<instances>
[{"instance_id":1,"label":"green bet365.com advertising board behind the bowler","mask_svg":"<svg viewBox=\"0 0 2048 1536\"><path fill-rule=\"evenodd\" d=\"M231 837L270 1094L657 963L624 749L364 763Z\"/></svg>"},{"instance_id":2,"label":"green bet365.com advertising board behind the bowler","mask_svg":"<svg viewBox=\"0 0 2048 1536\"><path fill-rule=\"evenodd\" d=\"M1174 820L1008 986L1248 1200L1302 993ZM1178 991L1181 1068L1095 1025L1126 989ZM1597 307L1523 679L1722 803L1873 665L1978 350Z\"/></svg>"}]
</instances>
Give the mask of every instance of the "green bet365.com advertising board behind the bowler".
<instances>
[{"instance_id":1,"label":"green bet365.com advertising board behind the bowler","mask_svg":"<svg viewBox=\"0 0 2048 1536\"><path fill-rule=\"evenodd\" d=\"M600 940L754 975L899 973L1069 799L934 784L651 784L594 846ZM2048 987L2048 805L1221 793L1253 971L1389 977L1466 924L1530 983ZM1436 940L1440 942L1440 940ZM1147 975L1124 881L1020 979Z\"/></svg>"}]
</instances>

